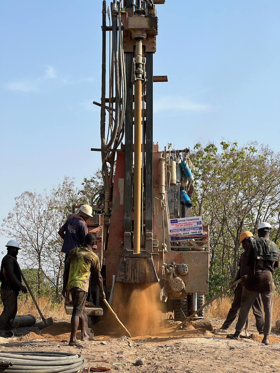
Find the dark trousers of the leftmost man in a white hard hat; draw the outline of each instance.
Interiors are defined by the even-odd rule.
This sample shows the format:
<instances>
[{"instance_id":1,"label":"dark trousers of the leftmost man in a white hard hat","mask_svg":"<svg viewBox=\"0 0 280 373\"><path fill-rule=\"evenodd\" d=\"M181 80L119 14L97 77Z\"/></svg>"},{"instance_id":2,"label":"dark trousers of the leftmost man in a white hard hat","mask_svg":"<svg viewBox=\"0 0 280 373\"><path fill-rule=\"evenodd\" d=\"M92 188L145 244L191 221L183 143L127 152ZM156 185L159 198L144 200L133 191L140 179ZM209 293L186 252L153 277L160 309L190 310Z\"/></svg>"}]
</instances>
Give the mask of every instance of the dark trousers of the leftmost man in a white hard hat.
<instances>
[{"instance_id":1,"label":"dark trousers of the leftmost man in a white hard hat","mask_svg":"<svg viewBox=\"0 0 280 373\"><path fill-rule=\"evenodd\" d=\"M18 312L18 293L12 290L0 289L3 311L0 315L0 329L11 330L13 320Z\"/></svg>"}]
</instances>

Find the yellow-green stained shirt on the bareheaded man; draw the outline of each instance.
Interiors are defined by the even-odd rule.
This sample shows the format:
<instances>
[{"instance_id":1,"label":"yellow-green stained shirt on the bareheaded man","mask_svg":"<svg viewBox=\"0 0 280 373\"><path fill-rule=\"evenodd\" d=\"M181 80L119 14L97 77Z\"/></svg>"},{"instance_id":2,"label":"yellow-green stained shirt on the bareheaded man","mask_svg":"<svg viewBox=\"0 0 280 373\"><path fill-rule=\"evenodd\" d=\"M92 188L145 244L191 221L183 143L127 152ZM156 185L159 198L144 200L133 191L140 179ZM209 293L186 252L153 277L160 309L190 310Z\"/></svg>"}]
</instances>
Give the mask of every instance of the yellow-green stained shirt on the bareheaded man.
<instances>
[{"instance_id":1,"label":"yellow-green stained shirt on the bareheaded man","mask_svg":"<svg viewBox=\"0 0 280 373\"><path fill-rule=\"evenodd\" d=\"M70 250L66 263L70 263L68 290L80 288L87 292L90 270L100 272L99 257L93 253L90 246L85 245Z\"/></svg>"}]
</instances>

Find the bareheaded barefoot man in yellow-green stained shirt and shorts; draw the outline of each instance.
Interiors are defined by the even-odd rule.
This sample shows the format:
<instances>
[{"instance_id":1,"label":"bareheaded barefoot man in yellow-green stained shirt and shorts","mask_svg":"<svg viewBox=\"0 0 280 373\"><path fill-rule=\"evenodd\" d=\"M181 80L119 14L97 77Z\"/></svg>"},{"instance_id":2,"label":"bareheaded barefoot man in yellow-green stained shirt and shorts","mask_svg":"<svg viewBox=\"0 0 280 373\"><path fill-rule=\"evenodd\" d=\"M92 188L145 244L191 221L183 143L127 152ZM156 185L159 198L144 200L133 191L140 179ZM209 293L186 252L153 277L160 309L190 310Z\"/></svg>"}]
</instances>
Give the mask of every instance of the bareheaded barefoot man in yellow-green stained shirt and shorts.
<instances>
[{"instance_id":1,"label":"bareheaded barefoot man in yellow-green stained shirt and shorts","mask_svg":"<svg viewBox=\"0 0 280 373\"><path fill-rule=\"evenodd\" d=\"M69 346L82 346L82 344L77 341L76 337L80 320L82 341L88 341L90 339L85 329L83 311L87 298L91 270L96 276L96 282L100 289L100 298L105 299L99 258L93 253L94 247L96 248L95 242L96 237L94 233L87 233L84 244L81 247L75 247L70 250L65 263L62 295L66 298L68 289L73 301Z\"/></svg>"}]
</instances>

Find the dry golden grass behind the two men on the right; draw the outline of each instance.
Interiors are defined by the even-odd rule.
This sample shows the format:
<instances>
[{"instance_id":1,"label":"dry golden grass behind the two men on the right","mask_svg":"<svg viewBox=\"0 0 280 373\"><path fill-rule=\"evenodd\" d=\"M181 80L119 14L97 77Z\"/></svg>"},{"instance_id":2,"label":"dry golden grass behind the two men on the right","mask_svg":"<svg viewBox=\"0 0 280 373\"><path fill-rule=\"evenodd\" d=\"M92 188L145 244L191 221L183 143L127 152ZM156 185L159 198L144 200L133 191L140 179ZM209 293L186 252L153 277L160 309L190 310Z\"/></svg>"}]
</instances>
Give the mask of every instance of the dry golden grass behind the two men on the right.
<instances>
[{"instance_id":1,"label":"dry golden grass behind the two men on the right","mask_svg":"<svg viewBox=\"0 0 280 373\"><path fill-rule=\"evenodd\" d=\"M225 319L228 310L230 309L233 298L227 295L223 298L214 300L206 308L206 317L208 319ZM272 318L274 321L280 320L280 294L274 293ZM250 319L254 319L252 311L250 312Z\"/></svg>"}]
</instances>

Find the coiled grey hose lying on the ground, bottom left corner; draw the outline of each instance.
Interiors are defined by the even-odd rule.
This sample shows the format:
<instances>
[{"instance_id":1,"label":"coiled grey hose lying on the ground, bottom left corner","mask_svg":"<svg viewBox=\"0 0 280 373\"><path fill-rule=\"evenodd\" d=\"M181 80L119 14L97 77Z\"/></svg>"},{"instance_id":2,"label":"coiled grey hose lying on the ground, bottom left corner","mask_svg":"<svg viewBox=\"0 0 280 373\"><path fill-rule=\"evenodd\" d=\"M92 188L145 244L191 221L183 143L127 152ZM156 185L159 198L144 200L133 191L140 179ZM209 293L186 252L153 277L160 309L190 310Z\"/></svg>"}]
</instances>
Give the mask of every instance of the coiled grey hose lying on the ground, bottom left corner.
<instances>
[{"instance_id":1,"label":"coiled grey hose lying on the ground, bottom left corner","mask_svg":"<svg viewBox=\"0 0 280 373\"><path fill-rule=\"evenodd\" d=\"M76 373L86 363L69 352L0 351L0 373Z\"/></svg>"}]
</instances>

